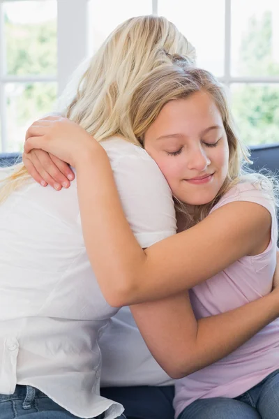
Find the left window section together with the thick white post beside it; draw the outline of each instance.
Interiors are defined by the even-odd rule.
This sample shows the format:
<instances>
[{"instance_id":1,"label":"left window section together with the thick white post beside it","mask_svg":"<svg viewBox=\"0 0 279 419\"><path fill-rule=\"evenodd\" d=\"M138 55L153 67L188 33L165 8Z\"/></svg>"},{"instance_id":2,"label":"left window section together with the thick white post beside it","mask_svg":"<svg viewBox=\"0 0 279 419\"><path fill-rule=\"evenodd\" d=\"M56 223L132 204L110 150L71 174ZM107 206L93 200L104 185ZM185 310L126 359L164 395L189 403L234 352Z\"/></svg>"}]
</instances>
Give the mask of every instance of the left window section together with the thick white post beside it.
<instances>
[{"instance_id":1,"label":"left window section together with the thick white post beside it","mask_svg":"<svg viewBox=\"0 0 279 419\"><path fill-rule=\"evenodd\" d=\"M0 0L0 152L22 150L86 57L87 2Z\"/></svg>"}]
</instances>

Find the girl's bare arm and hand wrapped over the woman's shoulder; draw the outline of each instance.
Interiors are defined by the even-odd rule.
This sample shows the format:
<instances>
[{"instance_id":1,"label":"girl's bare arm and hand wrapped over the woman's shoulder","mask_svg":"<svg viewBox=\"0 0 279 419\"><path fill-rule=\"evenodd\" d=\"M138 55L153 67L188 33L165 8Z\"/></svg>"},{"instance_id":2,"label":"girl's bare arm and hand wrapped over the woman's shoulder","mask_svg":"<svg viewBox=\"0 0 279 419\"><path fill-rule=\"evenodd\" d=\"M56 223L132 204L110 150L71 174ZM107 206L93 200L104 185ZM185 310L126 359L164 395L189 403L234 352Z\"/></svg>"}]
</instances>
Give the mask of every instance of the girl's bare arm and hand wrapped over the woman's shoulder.
<instances>
[{"instance_id":1,"label":"girl's bare arm and hand wrapped over the woman's shoulder","mask_svg":"<svg viewBox=\"0 0 279 419\"><path fill-rule=\"evenodd\" d=\"M112 306L158 300L192 288L250 254L269 233L271 216L264 207L235 202L143 251L123 213L103 147L65 119L43 121L30 135L26 152L45 149L77 170L86 250Z\"/></svg>"}]
</instances>

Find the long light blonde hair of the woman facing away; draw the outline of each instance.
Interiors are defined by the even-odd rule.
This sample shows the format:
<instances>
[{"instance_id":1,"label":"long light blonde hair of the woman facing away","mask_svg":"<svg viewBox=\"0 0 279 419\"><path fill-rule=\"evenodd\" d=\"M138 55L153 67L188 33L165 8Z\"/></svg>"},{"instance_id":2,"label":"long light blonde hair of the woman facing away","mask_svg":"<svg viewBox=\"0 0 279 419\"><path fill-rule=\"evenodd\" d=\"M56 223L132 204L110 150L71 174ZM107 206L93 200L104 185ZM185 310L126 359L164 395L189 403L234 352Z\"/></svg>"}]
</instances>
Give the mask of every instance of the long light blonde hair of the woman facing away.
<instances>
[{"instance_id":1,"label":"long light blonde hair of the woman facing away","mask_svg":"<svg viewBox=\"0 0 279 419\"><path fill-rule=\"evenodd\" d=\"M80 124L96 140L122 135L140 145L127 120L130 97L154 68L180 54L195 63L195 48L165 17L133 17L119 25L106 39L80 80L66 117ZM0 203L30 179L22 163L1 187Z\"/></svg>"}]
</instances>

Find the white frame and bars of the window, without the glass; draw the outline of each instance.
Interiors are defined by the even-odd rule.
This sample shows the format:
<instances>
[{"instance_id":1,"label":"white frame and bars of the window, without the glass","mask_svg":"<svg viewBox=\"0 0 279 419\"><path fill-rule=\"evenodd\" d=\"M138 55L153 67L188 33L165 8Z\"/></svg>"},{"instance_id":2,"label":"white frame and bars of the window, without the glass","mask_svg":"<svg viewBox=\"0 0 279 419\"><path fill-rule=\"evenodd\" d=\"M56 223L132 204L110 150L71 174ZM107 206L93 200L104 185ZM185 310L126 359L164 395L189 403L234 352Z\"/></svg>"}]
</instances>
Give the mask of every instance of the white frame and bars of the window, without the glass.
<instances>
[{"instance_id":1,"label":"white frame and bars of the window, without the glass","mask_svg":"<svg viewBox=\"0 0 279 419\"><path fill-rule=\"evenodd\" d=\"M57 1L57 74L56 76L26 76L6 75L3 39L3 8L0 0L0 117L1 117L1 149L7 150L6 143L6 98L5 84L7 82L57 82L58 94L61 94L71 73L89 54L89 0L56 0ZM20 1L20 0L17 0ZM44 0L36 0L44 1ZM101 1L101 0L100 0ZM115 0L117 1L117 0ZM132 0L131 0L132 1ZM133 0L140 1L140 0ZM153 15L158 15L158 1L150 0ZM171 0L170 0L171 1ZM233 77L231 74L231 12L232 0L225 0L225 60L224 75L220 77L227 87L233 83L279 83L278 77ZM74 28L74 29L72 29ZM70 53L69 53L70 52Z\"/></svg>"}]
</instances>

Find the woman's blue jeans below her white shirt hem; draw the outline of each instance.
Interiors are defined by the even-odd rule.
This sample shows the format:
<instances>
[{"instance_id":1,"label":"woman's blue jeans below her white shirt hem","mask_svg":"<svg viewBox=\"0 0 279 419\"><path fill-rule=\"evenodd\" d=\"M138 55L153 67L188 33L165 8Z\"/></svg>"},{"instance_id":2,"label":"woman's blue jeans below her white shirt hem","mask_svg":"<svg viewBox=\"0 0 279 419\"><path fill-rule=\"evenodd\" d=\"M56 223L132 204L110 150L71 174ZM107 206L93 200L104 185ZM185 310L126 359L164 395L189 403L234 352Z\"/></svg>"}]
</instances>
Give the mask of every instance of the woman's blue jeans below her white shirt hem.
<instances>
[{"instance_id":1,"label":"woman's blue jeans below her white shirt hem","mask_svg":"<svg viewBox=\"0 0 279 419\"><path fill-rule=\"evenodd\" d=\"M22 416L24 419L80 419L36 388L30 385L17 385L13 395L0 395L0 419ZM98 419L102 416L98 416Z\"/></svg>"}]
</instances>

